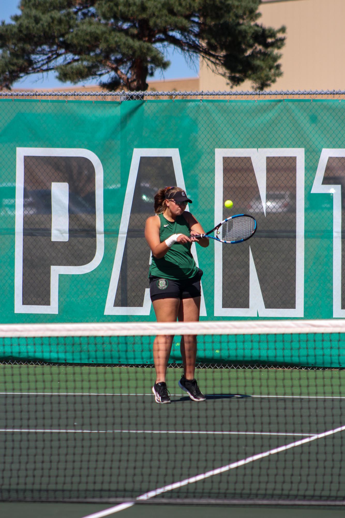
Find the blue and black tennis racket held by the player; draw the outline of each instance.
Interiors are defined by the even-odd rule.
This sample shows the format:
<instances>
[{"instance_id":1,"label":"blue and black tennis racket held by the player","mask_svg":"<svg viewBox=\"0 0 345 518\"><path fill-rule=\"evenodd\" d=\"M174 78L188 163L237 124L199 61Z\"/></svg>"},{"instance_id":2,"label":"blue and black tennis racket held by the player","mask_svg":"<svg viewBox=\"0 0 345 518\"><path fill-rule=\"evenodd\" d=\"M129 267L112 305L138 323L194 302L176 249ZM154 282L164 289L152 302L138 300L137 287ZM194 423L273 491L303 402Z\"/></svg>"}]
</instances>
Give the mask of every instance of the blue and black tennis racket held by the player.
<instances>
[{"instance_id":1,"label":"blue and black tennis racket held by the player","mask_svg":"<svg viewBox=\"0 0 345 518\"><path fill-rule=\"evenodd\" d=\"M230 218L221 221L206 234L199 234L193 236L198 238L208 237L215 239L221 243L241 243L252 237L257 229L257 222L248 214L236 214ZM212 232L216 231L215 236L210 236Z\"/></svg>"}]
</instances>

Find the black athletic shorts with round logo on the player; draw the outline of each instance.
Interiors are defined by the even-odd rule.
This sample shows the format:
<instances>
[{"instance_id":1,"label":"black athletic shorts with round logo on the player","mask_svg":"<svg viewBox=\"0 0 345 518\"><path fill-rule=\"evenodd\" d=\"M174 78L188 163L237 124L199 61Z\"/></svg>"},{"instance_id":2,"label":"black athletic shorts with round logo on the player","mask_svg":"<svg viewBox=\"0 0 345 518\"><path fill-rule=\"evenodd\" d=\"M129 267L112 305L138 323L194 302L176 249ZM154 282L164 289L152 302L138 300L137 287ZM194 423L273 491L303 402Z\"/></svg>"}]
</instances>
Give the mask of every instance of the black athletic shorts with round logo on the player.
<instances>
[{"instance_id":1,"label":"black athletic shorts with round logo on the player","mask_svg":"<svg viewBox=\"0 0 345 518\"><path fill-rule=\"evenodd\" d=\"M164 279L163 277L149 277L151 300L159 298L195 298L201 296L200 279L203 271L198 268L198 272L191 279L175 281Z\"/></svg>"}]
</instances>

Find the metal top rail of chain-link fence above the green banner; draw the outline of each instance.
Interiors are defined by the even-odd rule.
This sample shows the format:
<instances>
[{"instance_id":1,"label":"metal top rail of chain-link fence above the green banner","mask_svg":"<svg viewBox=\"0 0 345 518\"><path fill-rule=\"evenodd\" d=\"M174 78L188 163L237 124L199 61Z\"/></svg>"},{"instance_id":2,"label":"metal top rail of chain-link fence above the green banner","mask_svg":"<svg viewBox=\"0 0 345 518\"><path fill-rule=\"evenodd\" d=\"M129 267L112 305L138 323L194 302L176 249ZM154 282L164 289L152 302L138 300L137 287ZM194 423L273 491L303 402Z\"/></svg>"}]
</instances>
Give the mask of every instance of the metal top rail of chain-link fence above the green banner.
<instances>
[{"instance_id":1,"label":"metal top rail of chain-link fence above the green banner","mask_svg":"<svg viewBox=\"0 0 345 518\"><path fill-rule=\"evenodd\" d=\"M0 97L114 97L118 100L147 97L272 97L272 96L345 96L345 90L257 90L257 91L167 91L167 92L107 92L107 91L0 91Z\"/></svg>"}]
</instances>

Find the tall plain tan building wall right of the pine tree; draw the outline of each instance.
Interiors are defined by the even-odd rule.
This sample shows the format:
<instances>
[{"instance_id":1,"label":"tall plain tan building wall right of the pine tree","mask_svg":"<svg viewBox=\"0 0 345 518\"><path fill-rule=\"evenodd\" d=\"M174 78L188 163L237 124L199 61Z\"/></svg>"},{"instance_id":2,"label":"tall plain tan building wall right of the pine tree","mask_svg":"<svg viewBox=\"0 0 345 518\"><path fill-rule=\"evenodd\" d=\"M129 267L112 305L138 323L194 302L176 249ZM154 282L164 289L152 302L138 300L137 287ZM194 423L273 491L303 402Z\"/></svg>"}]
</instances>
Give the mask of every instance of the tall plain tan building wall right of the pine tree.
<instances>
[{"instance_id":1,"label":"tall plain tan building wall right of the pine tree","mask_svg":"<svg viewBox=\"0 0 345 518\"><path fill-rule=\"evenodd\" d=\"M271 90L345 90L345 0L263 0L259 23L286 25L283 76ZM200 90L229 90L226 79L200 63ZM232 90L252 90L246 81Z\"/></svg>"}]
</instances>

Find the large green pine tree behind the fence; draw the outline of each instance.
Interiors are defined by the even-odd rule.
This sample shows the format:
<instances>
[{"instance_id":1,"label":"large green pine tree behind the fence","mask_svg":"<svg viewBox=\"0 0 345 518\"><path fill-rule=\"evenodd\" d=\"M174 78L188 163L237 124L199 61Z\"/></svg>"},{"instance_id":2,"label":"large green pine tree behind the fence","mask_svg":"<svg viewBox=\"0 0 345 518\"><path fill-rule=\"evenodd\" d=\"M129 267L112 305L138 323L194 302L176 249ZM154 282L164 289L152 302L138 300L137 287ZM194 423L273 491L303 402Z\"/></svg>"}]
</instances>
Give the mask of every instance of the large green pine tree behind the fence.
<instances>
[{"instance_id":1,"label":"large green pine tree behind the fence","mask_svg":"<svg viewBox=\"0 0 345 518\"><path fill-rule=\"evenodd\" d=\"M258 20L261 0L21 0L0 25L0 90L55 70L60 81L95 80L108 90L147 89L170 62L202 56L231 86L264 89L282 75L284 27ZM0 15L1 16L1 15Z\"/></svg>"}]
</instances>

